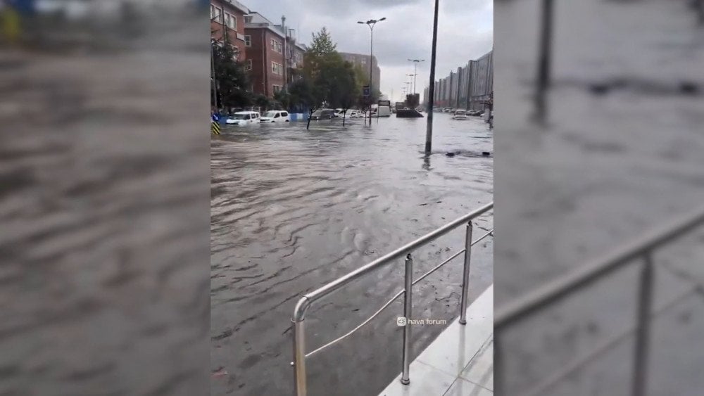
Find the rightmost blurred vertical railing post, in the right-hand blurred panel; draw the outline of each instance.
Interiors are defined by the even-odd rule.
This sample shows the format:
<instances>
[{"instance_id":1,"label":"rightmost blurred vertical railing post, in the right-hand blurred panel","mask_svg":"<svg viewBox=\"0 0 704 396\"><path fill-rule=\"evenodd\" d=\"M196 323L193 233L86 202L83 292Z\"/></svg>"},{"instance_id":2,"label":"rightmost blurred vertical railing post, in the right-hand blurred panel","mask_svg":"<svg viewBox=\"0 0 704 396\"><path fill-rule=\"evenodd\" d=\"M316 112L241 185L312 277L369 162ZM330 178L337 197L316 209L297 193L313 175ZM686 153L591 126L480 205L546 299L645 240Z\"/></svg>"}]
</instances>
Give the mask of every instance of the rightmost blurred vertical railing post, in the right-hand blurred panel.
<instances>
[{"instance_id":1,"label":"rightmost blurred vertical railing post, in the right-hand blurred panel","mask_svg":"<svg viewBox=\"0 0 704 396\"><path fill-rule=\"evenodd\" d=\"M653 300L653 253L643 256L641 284L638 291L638 317L634 350L633 396L645 396L648 390L647 369L650 348L650 309Z\"/></svg>"}]
</instances>

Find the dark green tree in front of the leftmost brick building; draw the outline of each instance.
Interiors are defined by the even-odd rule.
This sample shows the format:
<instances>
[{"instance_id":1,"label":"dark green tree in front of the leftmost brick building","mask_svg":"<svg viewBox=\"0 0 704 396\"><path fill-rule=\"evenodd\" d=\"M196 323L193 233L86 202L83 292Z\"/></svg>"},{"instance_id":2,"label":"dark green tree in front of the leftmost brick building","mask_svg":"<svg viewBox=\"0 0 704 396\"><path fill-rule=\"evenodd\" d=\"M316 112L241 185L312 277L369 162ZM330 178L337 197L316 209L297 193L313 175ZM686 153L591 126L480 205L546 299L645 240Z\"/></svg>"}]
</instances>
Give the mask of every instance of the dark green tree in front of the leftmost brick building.
<instances>
[{"instance_id":1,"label":"dark green tree in front of the leftmost brick building","mask_svg":"<svg viewBox=\"0 0 704 396\"><path fill-rule=\"evenodd\" d=\"M244 63L238 62L236 49L227 44L212 42L213 63L215 65L215 82L218 91L218 106L221 108L244 107L252 103L248 91L249 76ZM213 89L211 86L210 89ZM212 98L212 92L210 97Z\"/></svg>"}]
</instances>

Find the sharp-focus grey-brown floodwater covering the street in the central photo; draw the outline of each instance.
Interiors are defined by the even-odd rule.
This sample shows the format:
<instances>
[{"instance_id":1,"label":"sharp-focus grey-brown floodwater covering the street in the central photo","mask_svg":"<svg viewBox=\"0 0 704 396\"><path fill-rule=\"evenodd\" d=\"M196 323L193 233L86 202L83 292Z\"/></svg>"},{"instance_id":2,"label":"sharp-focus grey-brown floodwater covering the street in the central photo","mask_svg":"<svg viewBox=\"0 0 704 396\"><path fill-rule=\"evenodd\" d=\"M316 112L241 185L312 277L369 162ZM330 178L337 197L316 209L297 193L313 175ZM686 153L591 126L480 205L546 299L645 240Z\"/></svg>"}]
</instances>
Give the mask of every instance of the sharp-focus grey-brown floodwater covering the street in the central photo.
<instances>
[{"instance_id":1,"label":"sharp-focus grey-brown floodwater covering the street in the central photo","mask_svg":"<svg viewBox=\"0 0 704 396\"><path fill-rule=\"evenodd\" d=\"M493 132L477 117L224 127L211 143L211 392L292 392L290 317L298 298L493 200ZM449 157L448 152L456 153ZM482 152L490 152L486 157ZM493 212L475 222L475 239ZM457 229L414 254L416 276L462 247ZM474 246L470 299L493 282L493 241ZM414 288L414 317L458 315L461 256ZM310 351L370 316L403 286L403 261L318 302ZM308 359L310 395L376 395L401 371L401 299ZM414 328L414 356L444 326Z\"/></svg>"}]
</instances>

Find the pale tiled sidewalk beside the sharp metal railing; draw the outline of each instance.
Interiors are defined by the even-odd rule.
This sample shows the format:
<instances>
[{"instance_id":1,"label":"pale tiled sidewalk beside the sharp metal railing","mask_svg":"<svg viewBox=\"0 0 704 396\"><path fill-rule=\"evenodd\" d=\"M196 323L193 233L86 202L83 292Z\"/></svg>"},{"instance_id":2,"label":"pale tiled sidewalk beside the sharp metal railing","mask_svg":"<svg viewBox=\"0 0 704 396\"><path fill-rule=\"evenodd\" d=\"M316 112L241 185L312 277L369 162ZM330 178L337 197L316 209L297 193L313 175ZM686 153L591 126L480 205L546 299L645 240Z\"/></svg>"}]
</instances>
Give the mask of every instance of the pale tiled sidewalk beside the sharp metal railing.
<instances>
[{"instance_id":1,"label":"pale tiled sidewalk beside the sharp metal railing","mask_svg":"<svg viewBox=\"0 0 704 396\"><path fill-rule=\"evenodd\" d=\"M379 396L494 394L494 285L467 308L467 324L455 319Z\"/></svg>"}]
</instances>

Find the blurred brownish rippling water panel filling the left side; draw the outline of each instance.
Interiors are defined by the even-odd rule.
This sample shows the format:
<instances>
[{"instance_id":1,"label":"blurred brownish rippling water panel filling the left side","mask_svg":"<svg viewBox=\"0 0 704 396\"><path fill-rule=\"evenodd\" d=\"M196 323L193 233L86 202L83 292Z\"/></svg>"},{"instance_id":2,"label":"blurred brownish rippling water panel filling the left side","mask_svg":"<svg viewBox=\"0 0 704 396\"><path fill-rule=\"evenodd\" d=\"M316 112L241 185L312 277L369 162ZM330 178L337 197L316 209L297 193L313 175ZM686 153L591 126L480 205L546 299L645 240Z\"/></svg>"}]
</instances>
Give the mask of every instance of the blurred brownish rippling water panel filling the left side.
<instances>
[{"instance_id":1,"label":"blurred brownish rippling water panel filling the left side","mask_svg":"<svg viewBox=\"0 0 704 396\"><path fill-rule=\"evenodd\" d=\"M203 395L208 18L0 1L0 395Z\"/></svg>"}]
</instances>

